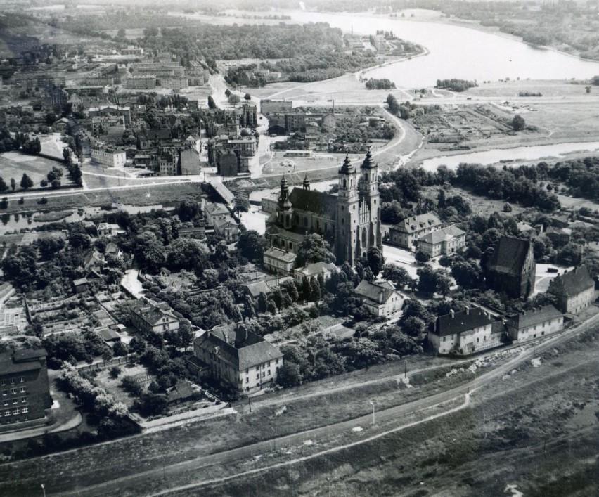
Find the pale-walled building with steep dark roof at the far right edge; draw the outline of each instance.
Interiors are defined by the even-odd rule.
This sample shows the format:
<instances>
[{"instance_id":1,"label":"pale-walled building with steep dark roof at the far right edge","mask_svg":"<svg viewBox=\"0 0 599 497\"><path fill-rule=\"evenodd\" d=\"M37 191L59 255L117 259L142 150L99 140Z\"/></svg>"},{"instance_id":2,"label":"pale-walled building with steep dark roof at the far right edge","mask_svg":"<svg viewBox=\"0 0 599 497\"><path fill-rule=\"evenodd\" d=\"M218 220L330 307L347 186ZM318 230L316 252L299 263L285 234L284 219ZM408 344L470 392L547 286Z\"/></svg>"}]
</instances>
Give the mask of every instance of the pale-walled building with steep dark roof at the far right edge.
<instances>
[{"instance_id":1,"label":"pale-walled building with steep dark roof at the far right edge","mask_svg":"<svg viewBox=\"0 0 599 497\"><path fill-rule=\"evenodd\" d=\"M579 314L595 300L595 281L585 264L556 276L547 290L558 297L556 306L564 314Z\"/></svg>"}]
</instances>

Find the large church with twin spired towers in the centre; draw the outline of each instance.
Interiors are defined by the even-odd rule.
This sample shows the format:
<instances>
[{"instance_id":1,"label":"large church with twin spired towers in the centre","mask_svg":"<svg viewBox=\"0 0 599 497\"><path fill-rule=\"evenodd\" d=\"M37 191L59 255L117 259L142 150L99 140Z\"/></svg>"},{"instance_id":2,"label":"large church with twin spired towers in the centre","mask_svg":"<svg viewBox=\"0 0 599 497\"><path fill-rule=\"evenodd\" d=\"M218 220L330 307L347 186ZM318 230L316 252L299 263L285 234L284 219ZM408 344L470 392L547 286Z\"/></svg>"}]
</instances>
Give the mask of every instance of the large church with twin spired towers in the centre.
<instances>
[{"instance_id":1,"label":"large church with twin spired towers in the centre","mask_svg":"<svg viewBox=\"0 0 599 497\"><path fill-rule=\"evenodd\" d=\"M276 212L266 221L271 247L295 253L304 236L318 233L330 243L337 264L352 266L370 247L382 250L378 165L370 150L359 167L346 156L337 177L337 195L311 190L307 178L290 191L283 177Z\"/></svg>"}]
</instances>

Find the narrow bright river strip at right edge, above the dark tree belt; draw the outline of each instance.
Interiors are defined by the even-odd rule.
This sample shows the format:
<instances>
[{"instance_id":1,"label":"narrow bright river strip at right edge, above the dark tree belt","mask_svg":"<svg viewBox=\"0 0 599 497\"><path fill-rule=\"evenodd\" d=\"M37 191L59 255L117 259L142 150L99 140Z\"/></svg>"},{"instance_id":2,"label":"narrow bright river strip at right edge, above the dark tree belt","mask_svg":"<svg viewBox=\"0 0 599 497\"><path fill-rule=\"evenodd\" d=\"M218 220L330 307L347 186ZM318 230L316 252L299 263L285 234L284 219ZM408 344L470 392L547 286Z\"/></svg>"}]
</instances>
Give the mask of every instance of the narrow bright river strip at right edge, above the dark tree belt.
<instances>
[{"instance_id":1,"label":"narrow bright river strip at right edge, above the dark tree belt","mask_svg":"<svg viewBox=\"0 0 599 497\"><path fill-rule=\"evenodd\" d=\"M542 160L548 157L559 158L573 152L596 152L599 150L599 141L581 143L555 143L555 145L541 145L515 148L496 148L484 152L462 153L457 155L443 155L423 160L421 167L427 171L437 171L437 167L445 165L449 169L457 169L462 162L468 164L498 164L501 161ZM510 163L505 163L508 167ZM517 165L517 164L512 164Z\"/></svg>"}]
</instances>

